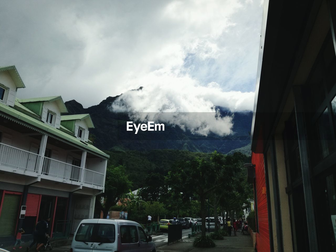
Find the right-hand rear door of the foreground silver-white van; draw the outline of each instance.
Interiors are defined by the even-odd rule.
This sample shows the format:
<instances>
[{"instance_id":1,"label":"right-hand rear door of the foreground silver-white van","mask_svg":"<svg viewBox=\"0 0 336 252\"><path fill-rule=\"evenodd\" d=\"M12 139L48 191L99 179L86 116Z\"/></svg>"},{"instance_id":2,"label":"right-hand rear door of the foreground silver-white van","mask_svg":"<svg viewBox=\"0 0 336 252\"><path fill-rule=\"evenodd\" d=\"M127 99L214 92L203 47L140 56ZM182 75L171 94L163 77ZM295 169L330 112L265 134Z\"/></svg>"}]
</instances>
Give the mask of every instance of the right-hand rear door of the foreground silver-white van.
<instances>
[{"instance_id":1,"label":"right-hand rear door of the foreground silver-white van","mask_svg":"<svg viewBox=\"0 0 336 252\"><path fill-rule=\"evenodd\" d=\"M98 223L94 230L93 252L117 251L116 226L109 223Z\"/></svg>"}]
</instances>

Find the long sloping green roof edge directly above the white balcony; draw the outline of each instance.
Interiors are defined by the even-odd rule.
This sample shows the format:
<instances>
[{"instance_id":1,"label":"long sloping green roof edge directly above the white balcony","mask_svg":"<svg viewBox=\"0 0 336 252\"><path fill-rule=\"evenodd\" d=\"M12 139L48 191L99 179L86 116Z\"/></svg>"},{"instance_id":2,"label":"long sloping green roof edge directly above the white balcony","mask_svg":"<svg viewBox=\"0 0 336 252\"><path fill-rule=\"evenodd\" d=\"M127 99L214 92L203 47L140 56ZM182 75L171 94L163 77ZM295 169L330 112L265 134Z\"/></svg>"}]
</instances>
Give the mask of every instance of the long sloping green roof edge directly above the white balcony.
<instances>
[{"instance_id":1,"label":"long sloping green roof edge directly above the white balcony","mask_svg":"<svg viewBox=\"0 0 336 252\"><path fill-rule=\"evenodd\" d=\"M19 99L18 99L19 100ZM110 156L100 151L98 148L89 143L84 143L80 141L77 137L69 135L66 132L63 132L59 129L52 127L49 124L43 123L29 115L24 114L12 107L7 106L6 104L0 103L0 111L9 115L13 119L17 119L19 122L27 123L28 126L33 126L32 128L35 130L39 130L40 132L47 133L51 137L58 138L63 140L64 142L71 144L73 146L79 146L79 148L87 150L90 153L97 154L99 156L109 158ZM9 118L9 119L11 119Z\"/></svg>"}]
</instances>

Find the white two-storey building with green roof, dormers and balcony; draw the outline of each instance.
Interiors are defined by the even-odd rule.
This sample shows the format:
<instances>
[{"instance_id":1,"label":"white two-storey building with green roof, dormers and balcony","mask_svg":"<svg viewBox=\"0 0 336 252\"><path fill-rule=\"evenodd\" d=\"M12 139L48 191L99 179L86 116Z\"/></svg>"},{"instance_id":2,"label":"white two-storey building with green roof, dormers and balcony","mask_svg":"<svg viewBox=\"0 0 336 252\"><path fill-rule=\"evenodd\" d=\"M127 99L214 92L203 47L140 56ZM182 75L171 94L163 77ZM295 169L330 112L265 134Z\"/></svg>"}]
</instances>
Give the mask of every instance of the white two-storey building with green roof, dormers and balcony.
<instances>
[{"instance_id":1,"label":"white two-storey building with green roof, dormers and balcony","mask_svg":"<svg viewBox=\"0 0 336 252\"><path fill-rule=\"evenodd\" d=\"M50 216L49 234L73 233L93 218L95 197L104 192L109 155L89 141L89 114L67 115L62 97L16 97L25 88L15 66L0 67L0 243L24 240ZM25 211L21 211L24 209ZM66 221L65 221L66 220ZM17 225L16 225L17 223Z\"/></svg>"}]
</instances>

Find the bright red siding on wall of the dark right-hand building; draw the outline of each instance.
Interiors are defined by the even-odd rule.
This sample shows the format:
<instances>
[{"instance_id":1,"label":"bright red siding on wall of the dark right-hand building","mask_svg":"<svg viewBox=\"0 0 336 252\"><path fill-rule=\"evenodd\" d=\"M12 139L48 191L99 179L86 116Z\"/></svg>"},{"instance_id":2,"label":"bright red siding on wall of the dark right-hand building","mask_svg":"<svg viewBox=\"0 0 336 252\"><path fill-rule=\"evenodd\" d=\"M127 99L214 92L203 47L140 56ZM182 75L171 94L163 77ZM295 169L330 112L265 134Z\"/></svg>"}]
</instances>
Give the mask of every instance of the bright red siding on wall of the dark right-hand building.
<instances>
[{"instance_id":1,"label":"bright red siding on wall of the dark right-hand building","mask_svg":"<svg viewBox=\"0 0 336 252\"><path fill-rule=\"evenodd\" d=\"M262 194L262 187L266 187L264 156L252 152L252 164L255 164L255 180L257 190L259 233L256 235L257 251L269 252L268 212L266 194Z\"/></svg>"}]
</instances>

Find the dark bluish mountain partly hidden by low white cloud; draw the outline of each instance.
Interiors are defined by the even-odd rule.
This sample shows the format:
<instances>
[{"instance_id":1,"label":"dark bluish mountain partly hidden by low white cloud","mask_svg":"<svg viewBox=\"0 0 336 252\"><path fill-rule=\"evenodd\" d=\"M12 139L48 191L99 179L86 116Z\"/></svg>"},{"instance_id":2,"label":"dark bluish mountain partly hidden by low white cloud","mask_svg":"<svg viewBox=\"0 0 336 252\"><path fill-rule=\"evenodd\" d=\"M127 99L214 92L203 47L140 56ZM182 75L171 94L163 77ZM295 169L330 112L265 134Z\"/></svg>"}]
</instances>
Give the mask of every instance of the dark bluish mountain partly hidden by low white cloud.
<instances>
[{"instance_id":1,"label":"dark bluish mountain partly hidden by low white cloud","mask_svg":"<svg viewBox=\"0 0 336 252\"><path fill-rule=\"evenodd\" d=\"M215 134L200 136L190 131L183 131L178 126L165 124L165 131L126 131L126 122L130 120L127 113L115 113L109 109L118 98L107 97L98 105L84 109L76 100L66 101L68 115L90 114L94 129L94 145L107 151L150 151L159 149L186 150L191 152L209 153L218 151L228 153L242 148L250 143L252 112L229 112L225 108L217 107L222 116L233 116L233 134L220 137ZM135 123L135 122L134 122Z\"/></svg>"}]
</instances>

